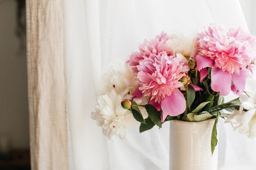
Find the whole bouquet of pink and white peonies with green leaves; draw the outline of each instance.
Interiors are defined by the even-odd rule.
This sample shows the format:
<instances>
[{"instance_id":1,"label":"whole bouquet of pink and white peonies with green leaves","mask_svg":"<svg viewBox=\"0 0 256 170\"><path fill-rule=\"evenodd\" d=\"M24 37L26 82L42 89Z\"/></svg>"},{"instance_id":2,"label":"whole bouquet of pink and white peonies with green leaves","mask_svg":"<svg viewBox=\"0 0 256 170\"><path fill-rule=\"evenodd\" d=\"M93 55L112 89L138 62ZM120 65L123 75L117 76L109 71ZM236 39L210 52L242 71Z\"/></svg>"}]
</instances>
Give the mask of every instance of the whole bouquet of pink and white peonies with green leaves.
<instances>
[{"instance_id":1,"label":"whole bouquet of pink and white peonies with green leaves","mask_svg":"<svg viewBox=\"0 0 256 170\"><path fill-rule=\"evenodd\" d=\"M218 117L249 137L256 136L256 38L242 28L210 24L199 33L162 32L145 40L126 63L102 75L102 96L92 119L108 138L125 138L126 128L143 132L169 120L200 122ZM224 102L230 92L240 98Z\"/></svg>"}]
</instances>

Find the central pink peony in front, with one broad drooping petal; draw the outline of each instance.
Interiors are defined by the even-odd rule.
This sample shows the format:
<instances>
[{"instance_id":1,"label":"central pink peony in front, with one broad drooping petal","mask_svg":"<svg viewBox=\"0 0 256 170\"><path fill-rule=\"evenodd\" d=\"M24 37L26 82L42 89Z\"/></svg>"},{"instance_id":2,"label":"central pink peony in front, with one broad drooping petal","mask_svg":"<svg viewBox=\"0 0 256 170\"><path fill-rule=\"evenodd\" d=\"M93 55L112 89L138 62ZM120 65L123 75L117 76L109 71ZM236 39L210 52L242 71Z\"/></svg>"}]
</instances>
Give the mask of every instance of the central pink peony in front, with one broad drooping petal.
<instances>
[{"instance_id":1,"label":"central pink peony in front, with one broad drooping petal","mask_svg":"<svg viewBox=\"0 0 256 170\"><path fill-rule=\"evenodd\" d=\"M184 86L179 80L189 67L166 52L153 56L145 58L137 66L139 90L153 100L150 104L161 104L164 121L168 115L177 116L186 109L186 100L178 88Z\"/></svg>"}]
</instances>

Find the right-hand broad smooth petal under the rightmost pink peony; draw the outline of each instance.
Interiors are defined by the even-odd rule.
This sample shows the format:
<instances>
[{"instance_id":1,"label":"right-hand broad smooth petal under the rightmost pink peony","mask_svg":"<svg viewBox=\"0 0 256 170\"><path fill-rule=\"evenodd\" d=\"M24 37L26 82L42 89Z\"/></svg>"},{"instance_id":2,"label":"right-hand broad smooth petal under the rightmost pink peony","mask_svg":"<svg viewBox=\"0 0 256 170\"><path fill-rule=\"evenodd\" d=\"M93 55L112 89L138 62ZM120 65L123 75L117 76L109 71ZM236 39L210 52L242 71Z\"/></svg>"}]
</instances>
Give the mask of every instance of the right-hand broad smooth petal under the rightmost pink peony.
<instances>
[{"instance_id":1,"label":"right-hand broad smooth petal under the rightmost pink peony","mask_svg":"<svg viewBox=\"0 0 256 170\"><path fill-rule=\"evenodd\" d=\"M233 74L232 81L237 90L243 91L245 89L245 80L252 76L252 72L250 72L247 68L242 68L240 70L240 74Z\"/></svg>"}]
</instances>

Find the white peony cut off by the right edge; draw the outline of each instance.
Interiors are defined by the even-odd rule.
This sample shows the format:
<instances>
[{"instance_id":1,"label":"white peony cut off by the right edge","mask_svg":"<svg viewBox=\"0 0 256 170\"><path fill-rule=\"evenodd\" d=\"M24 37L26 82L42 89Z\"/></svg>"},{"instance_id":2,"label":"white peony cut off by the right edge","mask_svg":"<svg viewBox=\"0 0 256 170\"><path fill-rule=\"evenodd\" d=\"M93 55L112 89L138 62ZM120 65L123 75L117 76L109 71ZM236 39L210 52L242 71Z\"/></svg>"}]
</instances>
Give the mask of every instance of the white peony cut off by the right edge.
<instances>
[{"instance_id":1,"label":"white peony cut off by the right edge","mask_svg":"<svg viewBox=\"0 0 256 170\"><path fill-rule=\"evenodd\" d=\"M247 78L245 92L240 94L242 102L239 111L233 111L232 116L225 122L236 125L235 130L247 134L248 137L256 137L256 77ZM244 110L245 109L245 110Z\"/></svg>"}]
</instances>

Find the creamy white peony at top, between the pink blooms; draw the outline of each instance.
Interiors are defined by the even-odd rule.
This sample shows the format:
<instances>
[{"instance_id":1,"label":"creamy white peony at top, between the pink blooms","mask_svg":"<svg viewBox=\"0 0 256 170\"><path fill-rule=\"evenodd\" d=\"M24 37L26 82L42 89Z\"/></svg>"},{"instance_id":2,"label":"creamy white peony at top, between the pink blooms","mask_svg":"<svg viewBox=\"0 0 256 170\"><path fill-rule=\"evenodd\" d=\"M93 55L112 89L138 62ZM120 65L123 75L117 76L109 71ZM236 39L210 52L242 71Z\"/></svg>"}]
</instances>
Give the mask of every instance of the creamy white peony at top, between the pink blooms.
<instances>
[{"instance_id":1,"label":"creamy white peony at top, between the pink blooms","mask_svg":"<svg viewBox=\"0 0 256 170\"><path fill-rule=\"evenodd\" d=\"M166 41L171 46L174 54L180 53L186 59L195 57L196 54L196 32L195 31L175 31L171 33L170 39Z\"/></svg>"}]
</instances>

